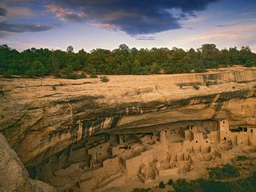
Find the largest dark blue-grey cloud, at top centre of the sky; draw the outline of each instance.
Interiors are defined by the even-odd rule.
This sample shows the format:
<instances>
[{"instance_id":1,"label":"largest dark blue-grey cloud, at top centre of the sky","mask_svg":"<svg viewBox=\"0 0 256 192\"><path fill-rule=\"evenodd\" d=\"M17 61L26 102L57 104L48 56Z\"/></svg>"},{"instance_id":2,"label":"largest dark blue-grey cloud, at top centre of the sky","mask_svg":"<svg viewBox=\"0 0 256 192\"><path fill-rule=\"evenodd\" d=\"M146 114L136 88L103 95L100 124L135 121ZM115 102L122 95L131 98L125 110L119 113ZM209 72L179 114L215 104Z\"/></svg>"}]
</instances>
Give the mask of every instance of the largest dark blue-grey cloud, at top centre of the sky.
<instances>
[{"instance_id":1,"label":"largest dark blue-grey cloud, at top centre of the sky","mask_svg":"<svg viewBox=\"0 0 256 192\"><path fill-rule=\"evenodd\" d=\"M113 25L129 35L135 36L180 29L179 21L181 19L195 17L194 11L205 10L210 3L218 1L54 0L48 2L65 10L82 11L86 14L84 19L90 23ZM178 10L179 14L174 14L173 10ZM57 14L56 16L58 17Z\"/></svg>"}]
</instances>

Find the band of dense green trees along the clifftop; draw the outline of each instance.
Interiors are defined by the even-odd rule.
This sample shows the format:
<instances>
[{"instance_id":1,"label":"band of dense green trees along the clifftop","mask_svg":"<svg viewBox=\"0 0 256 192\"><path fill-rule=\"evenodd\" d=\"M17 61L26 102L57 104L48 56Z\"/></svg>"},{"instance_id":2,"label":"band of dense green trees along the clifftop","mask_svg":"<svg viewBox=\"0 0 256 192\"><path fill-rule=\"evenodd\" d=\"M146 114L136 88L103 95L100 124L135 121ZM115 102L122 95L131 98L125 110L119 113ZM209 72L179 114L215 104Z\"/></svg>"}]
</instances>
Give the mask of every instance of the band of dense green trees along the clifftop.
<instances>
[{"instance_id":1,"label":"band of dense green trees along the clifftop","mask_svg":"<svg viewBox=\"0 0 256 192\"><path fill-rule=\"evenodd\" d=\"M31 48L18 52L6 44L0 45L1 75L34 77L50 73L56 77L84 78L86 74L93 77L96 72L106 75L181 74L234 64L252 67L256 65L256 54L248 46L240 50L236 47L219 50L215 44L203 44L199 49L186 51L176 47L137 50L121 44L112 51L99 48L90 52L84 49L74 52L72 46L67 51Z\"/></svg>"}]
</instances>

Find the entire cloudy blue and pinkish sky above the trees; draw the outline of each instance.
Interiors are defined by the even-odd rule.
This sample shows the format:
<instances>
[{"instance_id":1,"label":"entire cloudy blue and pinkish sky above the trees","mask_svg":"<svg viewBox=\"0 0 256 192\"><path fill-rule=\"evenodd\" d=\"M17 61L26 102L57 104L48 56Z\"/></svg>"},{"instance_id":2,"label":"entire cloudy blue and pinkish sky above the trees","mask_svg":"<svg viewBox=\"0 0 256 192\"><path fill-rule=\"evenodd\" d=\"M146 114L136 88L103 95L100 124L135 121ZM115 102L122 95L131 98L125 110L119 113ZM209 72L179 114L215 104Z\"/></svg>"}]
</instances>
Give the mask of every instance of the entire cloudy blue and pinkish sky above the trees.
<instances>
[{"instance_id":1,"label":"entire cloudy blue and pinkish sky above the trees","mask_svg":"<svg viewBox=\"0 0 256 192\"><path fill-rule=\"evenodd\" d=\"M255 0L0 0L0 44L77 52L96 48L219 49L256 52Z\"/></svg>"}]
</instances>

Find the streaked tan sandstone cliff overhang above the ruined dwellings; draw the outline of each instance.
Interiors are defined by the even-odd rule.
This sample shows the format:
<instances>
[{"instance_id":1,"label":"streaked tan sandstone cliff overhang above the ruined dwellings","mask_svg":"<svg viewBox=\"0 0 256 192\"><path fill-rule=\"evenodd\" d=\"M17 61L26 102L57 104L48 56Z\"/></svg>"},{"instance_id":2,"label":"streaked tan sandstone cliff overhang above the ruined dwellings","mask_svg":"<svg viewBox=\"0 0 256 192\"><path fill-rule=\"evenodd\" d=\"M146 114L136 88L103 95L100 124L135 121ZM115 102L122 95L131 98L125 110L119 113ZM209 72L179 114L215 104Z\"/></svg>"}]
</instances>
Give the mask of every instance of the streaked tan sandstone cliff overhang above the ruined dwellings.
<instances>
[{"instance_id":1,"label":"streaked tan sandstone cliff overhang above the ruined dwellings","mask_svg":"<svg viewBox=\"0 0 256 192\"><path fill-rule=\"evenodd\" d=\"M220 118L231 128L256 124L256 68L109 78L0 78L0 132L26 167L102 131Z\"/></svg>"}]
</instances>

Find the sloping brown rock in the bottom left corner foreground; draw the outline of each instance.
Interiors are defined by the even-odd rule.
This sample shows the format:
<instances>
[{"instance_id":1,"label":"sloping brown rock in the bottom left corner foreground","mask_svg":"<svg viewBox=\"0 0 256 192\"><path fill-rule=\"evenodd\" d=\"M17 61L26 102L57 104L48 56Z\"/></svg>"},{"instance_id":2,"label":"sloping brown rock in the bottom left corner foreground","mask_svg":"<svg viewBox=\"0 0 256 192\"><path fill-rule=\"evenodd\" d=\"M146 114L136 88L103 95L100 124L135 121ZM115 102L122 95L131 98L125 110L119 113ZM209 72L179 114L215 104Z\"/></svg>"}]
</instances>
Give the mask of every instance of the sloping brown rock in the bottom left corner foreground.
<instances>
[{"instance_id":1,"label":"sloping brown rock in the bottom left corner foreground","mask_svg":"<svg viewBox=\"0 0 256 192\"><path fill-rule=\"evenodd\" d=\"M0 133L0 191L54 192L48 184L31 180L17 154Z\"/></svg>"}]
</instances>

